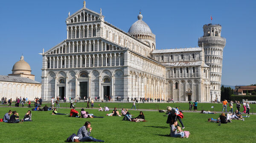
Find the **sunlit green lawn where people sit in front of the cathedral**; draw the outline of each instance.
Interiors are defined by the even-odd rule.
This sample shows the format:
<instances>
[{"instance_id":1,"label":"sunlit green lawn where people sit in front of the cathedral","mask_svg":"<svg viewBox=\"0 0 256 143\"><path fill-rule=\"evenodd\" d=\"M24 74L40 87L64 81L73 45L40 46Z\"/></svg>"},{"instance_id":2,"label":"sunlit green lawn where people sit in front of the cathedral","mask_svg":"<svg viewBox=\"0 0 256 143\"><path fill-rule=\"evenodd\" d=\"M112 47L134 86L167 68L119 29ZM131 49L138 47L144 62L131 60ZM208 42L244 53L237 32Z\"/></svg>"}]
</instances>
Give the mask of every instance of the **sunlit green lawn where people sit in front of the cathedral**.
<instances>
[{"instance_id":1,"label":"sunlit green lawn where people sit in front of the cathedral","mask_svg":"<svg viewBox=\"0 0 256 143\"><path fill-rule=\"evenodd\" d=\"M29 108L1 107L1 118L9 109L16 110L20 118L23 118ZM80 112L80 109L77 110ZM123 117L106 116L107 112L99 112L95 109L86 109L86 111L104 118L70 118L66 115L51 115L51 111L32 111L32 122L16 124L1 122L1 142L63 143L72 133L77 133L85 121L91 122L93 128L91 136L105 140L106 143L253 143L256 140L256 115L245 118L245 121L233 120L233 123L218 126L218 123L207 122L207 118L218 118L219 114L184 112L182 119L184 130L189 131L191 135L189 138L181 139L166 136L170 133L170 127L166 124L167 116L164 116L164 113L145 111L147 122L135 123L122 121ZM58 112L68 113L70 109L59 109ZM139 115L137 110L129 112L135 117Z\"/></svg>"}]
</instances>

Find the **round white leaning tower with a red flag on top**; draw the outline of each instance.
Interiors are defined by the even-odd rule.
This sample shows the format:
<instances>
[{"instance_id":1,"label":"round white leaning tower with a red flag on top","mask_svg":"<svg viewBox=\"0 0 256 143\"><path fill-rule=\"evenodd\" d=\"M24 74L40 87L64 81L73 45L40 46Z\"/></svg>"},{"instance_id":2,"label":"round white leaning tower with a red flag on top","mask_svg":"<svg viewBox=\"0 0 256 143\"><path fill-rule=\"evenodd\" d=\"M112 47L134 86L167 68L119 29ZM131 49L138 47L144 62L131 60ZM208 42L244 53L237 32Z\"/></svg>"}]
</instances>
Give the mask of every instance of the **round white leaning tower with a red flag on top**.
<instances>
[{"instance_id":1,"label":"round white leaning tower with a red flag on top","mask_svg":"<svg viewBox=\"0 0 256 143\"><path fill-rule=\"evenodd\" d=\"M198 46L204 47L205 63L210 67L211 100L220 101L223 49L226 39L221 37L221 25L219 24L206 24L203 29L204 36L198 38Z\"/></svg>"}]
</instances>

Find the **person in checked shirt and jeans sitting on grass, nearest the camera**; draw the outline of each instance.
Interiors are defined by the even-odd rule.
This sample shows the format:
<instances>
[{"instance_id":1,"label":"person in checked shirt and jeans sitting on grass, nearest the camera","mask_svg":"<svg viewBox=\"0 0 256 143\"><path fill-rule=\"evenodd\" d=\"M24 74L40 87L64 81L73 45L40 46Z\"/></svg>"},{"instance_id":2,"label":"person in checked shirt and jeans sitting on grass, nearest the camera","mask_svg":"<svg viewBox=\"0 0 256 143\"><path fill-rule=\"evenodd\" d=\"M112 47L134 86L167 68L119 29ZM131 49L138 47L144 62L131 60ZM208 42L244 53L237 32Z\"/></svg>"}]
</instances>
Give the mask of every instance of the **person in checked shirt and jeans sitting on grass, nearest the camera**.
<instances>
[{"instance_id":1,"label":"person in checked shirt and jeans sitting on grass, nearest the camera","mask_svg":"<svg viewBox=\"0 0 256 143\"><path fill-rule=\"evenodd\" d=\"M89 129L89 132L87 131L87 129ZM77 136L79 137L79 139L75 139L74 142L88 142L88 141L96 141L96 142L104 142L104 140L98 140L96 138L93 138L90 136L90 133L92 131L92 127L91 127L91 123L90 122L85 122L84 126L82 126L78 132L77 132Z\"/></svg>"}]
</instances>

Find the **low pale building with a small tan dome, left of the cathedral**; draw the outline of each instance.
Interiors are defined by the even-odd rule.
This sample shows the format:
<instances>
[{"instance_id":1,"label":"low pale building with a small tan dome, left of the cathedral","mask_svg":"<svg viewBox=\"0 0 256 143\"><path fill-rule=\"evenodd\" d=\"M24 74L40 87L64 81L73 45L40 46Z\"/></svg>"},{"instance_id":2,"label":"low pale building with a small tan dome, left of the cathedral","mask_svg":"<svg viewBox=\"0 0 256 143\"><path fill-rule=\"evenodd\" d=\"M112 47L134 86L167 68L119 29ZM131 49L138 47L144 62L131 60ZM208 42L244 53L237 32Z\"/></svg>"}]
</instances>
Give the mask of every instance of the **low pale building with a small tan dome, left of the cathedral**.
<instances>
[{"instance_id":1,"label":"low pale building with a small tan dome, left of the cathedral","mask_svg":"<svg viewBox=\"0 0 256 143\"><path fill-rule=\"evenodd\" d=\"M24 57L20 57L20 61L16 62L12 67L12 74L8 76L0 75L0 97L12 98L16 97L28 98L33 101L35 97L41 97L41 83L35 81L35 75L31 74L30 65L24 61Z\"/></svg>"}]
</instances>

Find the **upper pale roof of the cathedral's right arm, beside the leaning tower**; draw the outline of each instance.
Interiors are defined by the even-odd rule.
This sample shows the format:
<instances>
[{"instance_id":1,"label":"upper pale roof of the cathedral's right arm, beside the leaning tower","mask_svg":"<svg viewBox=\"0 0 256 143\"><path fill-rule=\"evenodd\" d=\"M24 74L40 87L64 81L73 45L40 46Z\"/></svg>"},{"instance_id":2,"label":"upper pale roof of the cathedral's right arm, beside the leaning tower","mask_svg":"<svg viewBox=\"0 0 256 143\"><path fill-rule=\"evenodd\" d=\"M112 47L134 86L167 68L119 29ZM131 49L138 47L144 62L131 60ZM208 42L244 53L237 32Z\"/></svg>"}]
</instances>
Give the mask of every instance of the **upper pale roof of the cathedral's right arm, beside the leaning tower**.
<instances>
[{"instance_id":1,"label":"upper pale roof of the cathedral's right arm, beside the leaning tower","mask_svg":"<svg viewBox=\"0 0 256 143\"><path fill-rule=\"evenodd\" d=\"M165 49L165 50L153 50L151 53L176 53L176 52L192 52L192 51L202 51L202 47L195 48L175 48L175 49Z\"/></svg>"}]
</instances>

